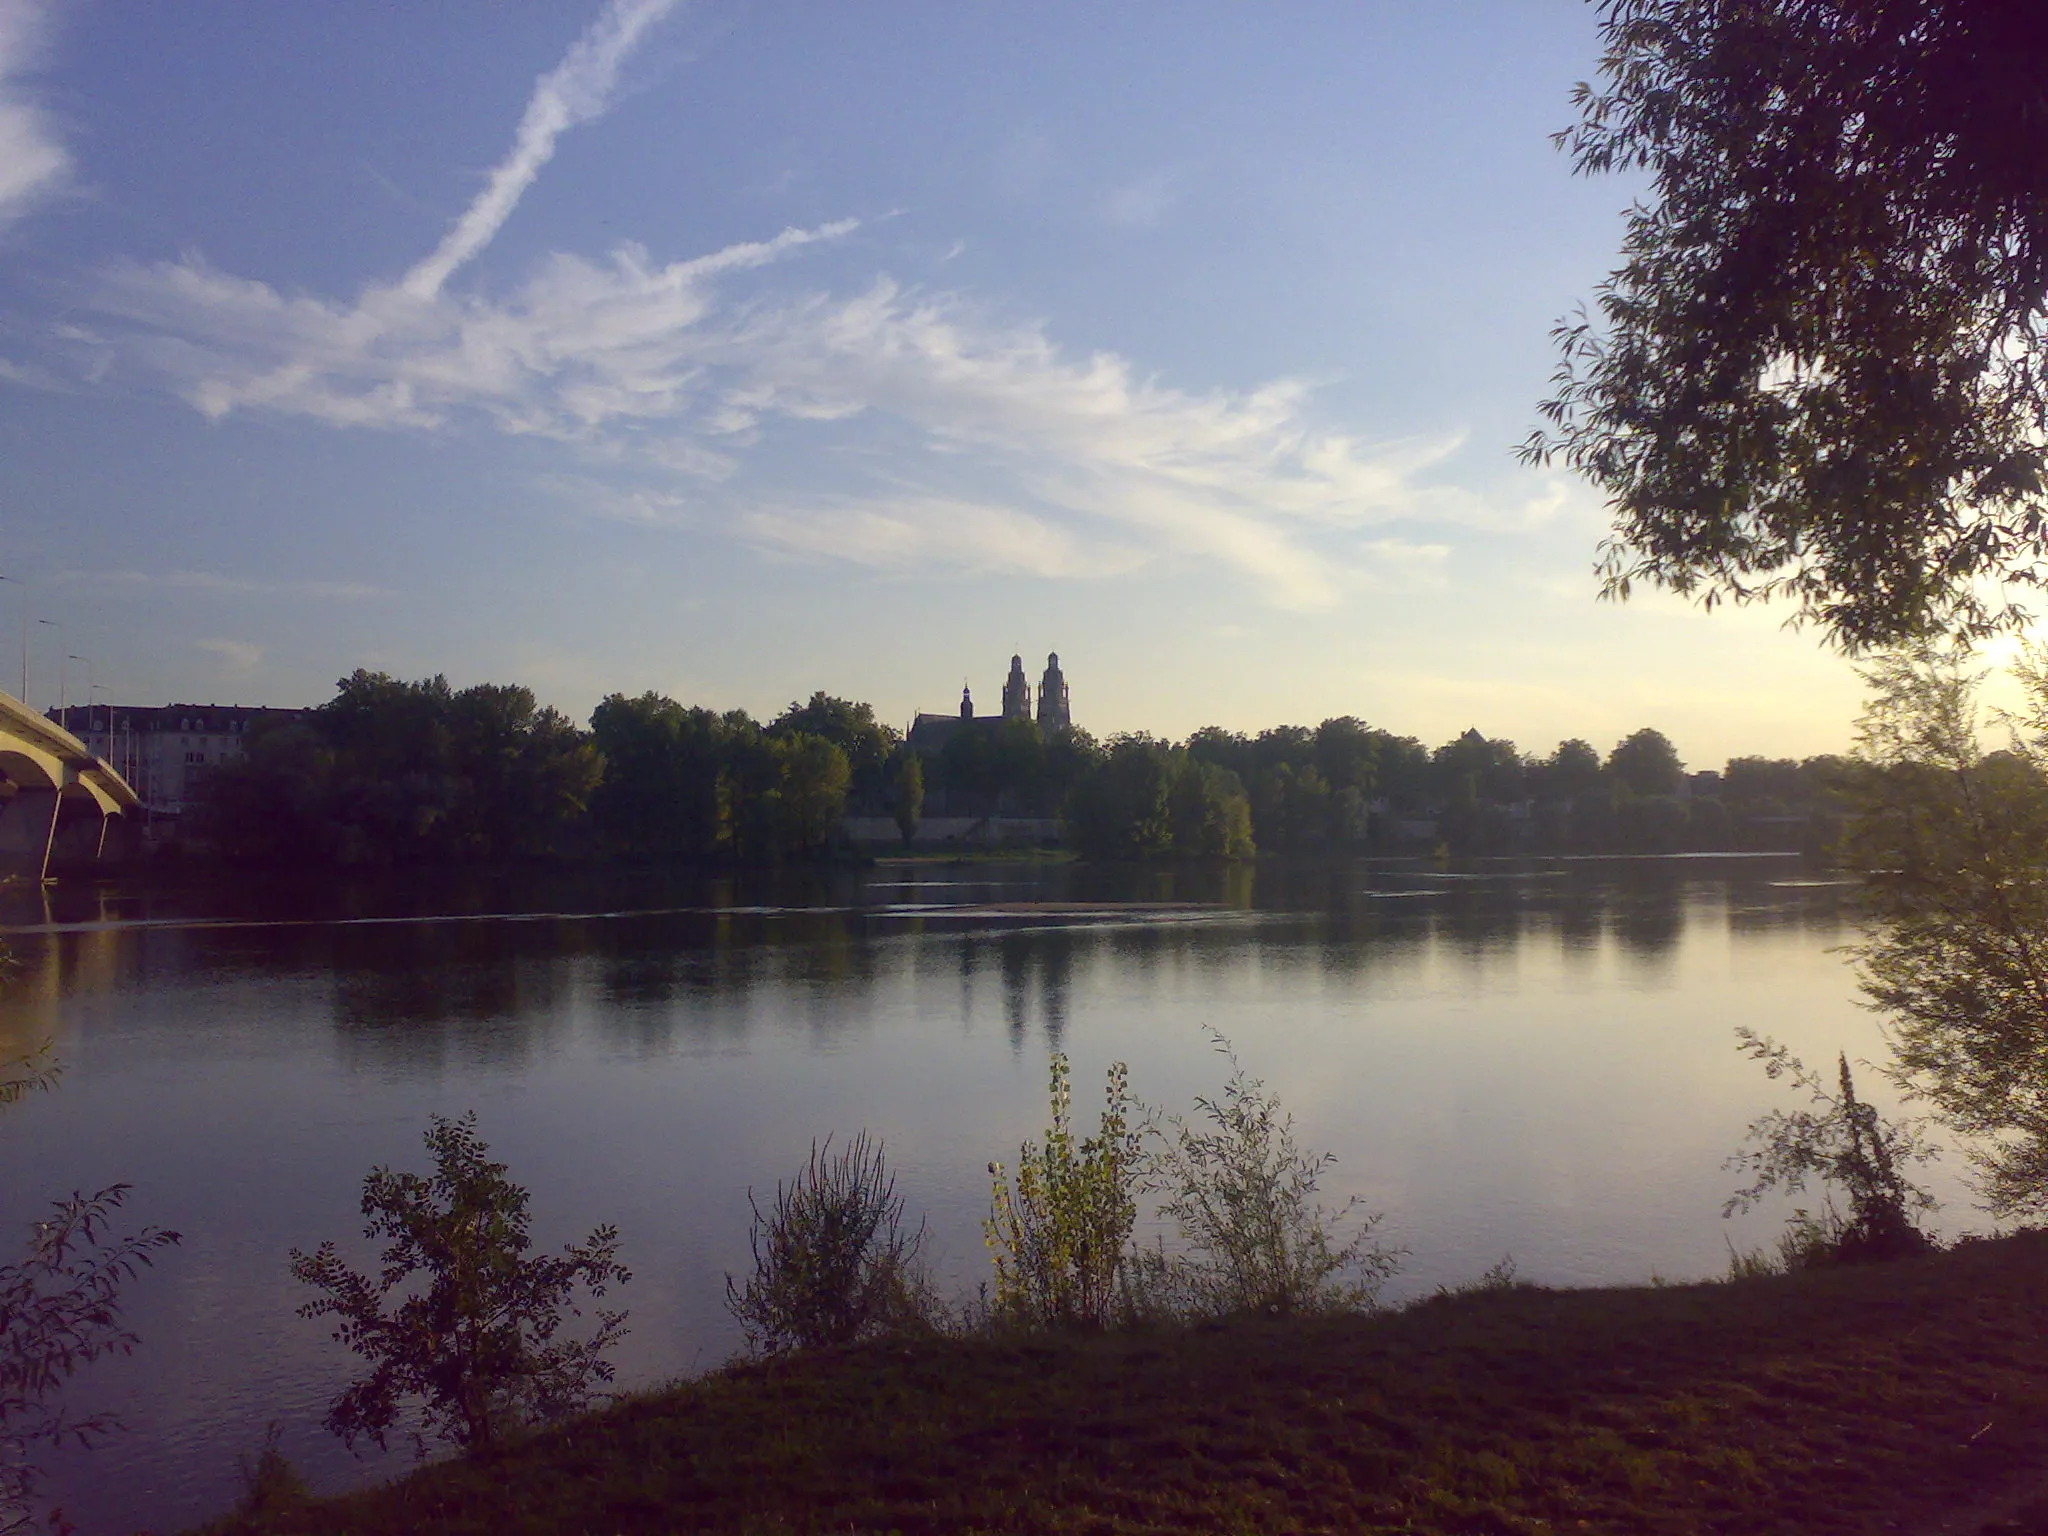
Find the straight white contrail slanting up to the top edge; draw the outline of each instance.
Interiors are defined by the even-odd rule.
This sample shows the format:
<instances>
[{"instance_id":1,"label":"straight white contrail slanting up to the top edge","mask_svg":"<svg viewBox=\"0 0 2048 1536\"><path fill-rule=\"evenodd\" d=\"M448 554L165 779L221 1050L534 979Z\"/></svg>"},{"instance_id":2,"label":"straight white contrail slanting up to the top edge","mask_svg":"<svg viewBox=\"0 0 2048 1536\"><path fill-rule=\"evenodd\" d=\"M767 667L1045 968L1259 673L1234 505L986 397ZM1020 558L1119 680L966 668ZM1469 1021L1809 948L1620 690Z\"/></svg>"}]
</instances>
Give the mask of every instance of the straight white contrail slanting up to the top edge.
<instances>
[{"instance_id":1,"label":"straight white contrail slanting up to the top edge","mask_svg":"<svg viewBox=\"0 0 2048 1536\"><path fill-rule=\"evenodd\" d=\"M604 6L604 14L575 39L561 63L535 82L512 154L492 172L489 186L463 211L434 254L406 272L399 285L406 293L432 299L457 266L492 244L541 166L553 158L561 131L588 123L610 104L618 66L641 35L674 8L676 0L610 0Z\"/></svg>"}]
</instances>

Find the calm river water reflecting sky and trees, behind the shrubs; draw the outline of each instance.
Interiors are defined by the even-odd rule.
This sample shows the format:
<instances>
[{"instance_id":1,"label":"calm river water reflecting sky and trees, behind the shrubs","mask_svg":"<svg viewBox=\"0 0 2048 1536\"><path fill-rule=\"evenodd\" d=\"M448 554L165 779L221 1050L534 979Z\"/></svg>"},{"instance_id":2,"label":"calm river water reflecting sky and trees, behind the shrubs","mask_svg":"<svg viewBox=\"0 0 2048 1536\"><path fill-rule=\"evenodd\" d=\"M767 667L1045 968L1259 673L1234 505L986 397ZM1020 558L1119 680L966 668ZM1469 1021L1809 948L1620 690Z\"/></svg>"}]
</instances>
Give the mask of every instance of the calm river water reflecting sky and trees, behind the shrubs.
<instances>
[{"instance_id":1,"label":"calm river water reflecting sky and trees, behind the shrubs","mask_svg":"<svg viewBox=\"0 0 2048 1536\"><path fill-rule=\"evenodd\" d=\"M285 1266L324 1237L367 1257L360 1178L422 1165L434 1112L477 1110L541 1243L618 1225L623 1384L733 1352L748 1186L813 1137L885 1139L965 1292L1047 1055L1077 1104L1124 1059L1182 1108L1223 1077L1202 1026L1337 1153L1331 1200L1384 1212L1397 1296L1503 1253L1554 1284L1718 1274L1729 1235L1772 1233L1720 1221L1720 1161L1786 1102L1733 1026L1876 1051L1829 952L1849 897L1792 858L57 889L0 913L0 1055L49 1038L66 1065L0 1116L0 1231L129 1180L137 1223L184 1233L131 1290L141 1350L74 1389L131 1432L57 1466L63 1505L86 1532L215 1513L270 1421L322 1487L406 1464L319 1430L350 1356Z\"/></svg>"}]
</instances>

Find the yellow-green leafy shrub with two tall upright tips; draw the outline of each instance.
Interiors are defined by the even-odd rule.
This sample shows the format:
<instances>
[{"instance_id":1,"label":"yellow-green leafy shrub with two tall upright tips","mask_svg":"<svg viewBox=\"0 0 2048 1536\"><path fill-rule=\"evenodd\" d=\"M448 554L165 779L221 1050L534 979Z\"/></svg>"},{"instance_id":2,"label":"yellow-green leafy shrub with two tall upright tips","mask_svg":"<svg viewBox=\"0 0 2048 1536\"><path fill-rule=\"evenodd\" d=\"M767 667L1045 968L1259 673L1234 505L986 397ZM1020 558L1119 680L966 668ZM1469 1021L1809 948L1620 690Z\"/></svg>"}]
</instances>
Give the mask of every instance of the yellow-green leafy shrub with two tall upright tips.
<instances>
[{"instance_id":1,"label":"yellow-green leafy shrub with two tall upright tips","mask_svg":"<svg viewBox=\"0 0 2048 1536\"><path fill-rule=\"evenodd\" d=\"M1075 1141L1067 1057L1053 1055L1053 1124L1044 1145L1018 1149L1016 1184L1001 1163L983 1223L995 1260L993 1321L1024 1327L1108 1327L1137 1223L1143 1133L1130 1126L1124 1063L1110 1067L1102 1126Z\"/></svg>"}]
</instances>

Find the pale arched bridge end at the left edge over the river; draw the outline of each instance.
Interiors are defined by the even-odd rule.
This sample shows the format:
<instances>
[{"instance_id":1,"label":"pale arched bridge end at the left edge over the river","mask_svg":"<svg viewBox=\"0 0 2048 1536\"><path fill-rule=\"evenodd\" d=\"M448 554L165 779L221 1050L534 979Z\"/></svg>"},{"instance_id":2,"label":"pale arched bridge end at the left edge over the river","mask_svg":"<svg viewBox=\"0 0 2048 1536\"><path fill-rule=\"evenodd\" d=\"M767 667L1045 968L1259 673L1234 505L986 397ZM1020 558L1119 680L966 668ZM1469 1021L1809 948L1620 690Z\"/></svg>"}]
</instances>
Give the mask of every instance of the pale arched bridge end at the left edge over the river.
<instances>
[{"instance_id":1,"label":"pale arched bridge end at the left edge over the river","mask_svg":"<svg viewBox=\"0 0 2048 1536\"><path fill-rule=\"evenodd\" d=\"M0 692L0 879L41 883L53 864L88 864L133 846L141 801L86 743Z\"/></svg>"}]
</instances>

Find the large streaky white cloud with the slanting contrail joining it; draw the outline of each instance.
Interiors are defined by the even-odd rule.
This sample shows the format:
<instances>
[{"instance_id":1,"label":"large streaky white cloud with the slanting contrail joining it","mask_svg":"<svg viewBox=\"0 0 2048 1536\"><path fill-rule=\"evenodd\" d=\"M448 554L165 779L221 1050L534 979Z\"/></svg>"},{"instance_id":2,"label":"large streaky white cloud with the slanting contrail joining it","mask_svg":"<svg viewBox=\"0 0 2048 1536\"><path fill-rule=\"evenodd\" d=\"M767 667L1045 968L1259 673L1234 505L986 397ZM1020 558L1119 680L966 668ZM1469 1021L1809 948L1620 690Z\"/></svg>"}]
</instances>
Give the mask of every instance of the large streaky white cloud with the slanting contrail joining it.
<instances>
[{"instance_id":1,"label":"large streaky white cloud with the slanting contrail joining it","mask_svg":"<svg viewBox=\"0 0 2048 1536\"><path fill-rule=\"evenodd\" d=\"M1346 530L1532 516L1432 483L1454 434L1372 444L1331 430L1303 379L1190 391L958 293L778 283L854 238L856 219L674 262L631 244L602 260L563 252L498 295L451 287L555 137L604 109L664 10L606 8L537 84L489 186L397 283L348 303L197 258L127 264L74 340L215 420L559 438L586 465L631 469L625 489L586 498L592 512L879 569L1106 575L1196 557L1278 604L1327 606L1389 565Z\"/></svg>"}]
</instances>

